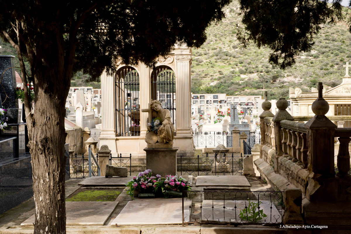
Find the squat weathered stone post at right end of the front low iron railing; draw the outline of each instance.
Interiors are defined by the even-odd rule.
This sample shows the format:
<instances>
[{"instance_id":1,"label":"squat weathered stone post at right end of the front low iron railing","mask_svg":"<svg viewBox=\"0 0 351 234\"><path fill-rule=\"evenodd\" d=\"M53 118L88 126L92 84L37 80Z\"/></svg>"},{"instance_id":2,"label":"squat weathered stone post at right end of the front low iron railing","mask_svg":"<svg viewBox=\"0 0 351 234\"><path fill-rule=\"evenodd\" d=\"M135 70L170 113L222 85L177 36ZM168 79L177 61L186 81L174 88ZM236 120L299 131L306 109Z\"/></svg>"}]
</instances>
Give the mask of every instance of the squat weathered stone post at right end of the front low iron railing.
<instances>
[{"instance_id":1,"label":"squat weathered stone post at right end of the front low iron railing","mask_svg":"<svg viewBox=\"0 0 351 234\"><path fill-rule=\"evenodd\" d=\"M302 191L299 188L287 188L283 196L285 211L283 214L284 224L303 224L301 216Z\"/></svg>"}]
</instances>

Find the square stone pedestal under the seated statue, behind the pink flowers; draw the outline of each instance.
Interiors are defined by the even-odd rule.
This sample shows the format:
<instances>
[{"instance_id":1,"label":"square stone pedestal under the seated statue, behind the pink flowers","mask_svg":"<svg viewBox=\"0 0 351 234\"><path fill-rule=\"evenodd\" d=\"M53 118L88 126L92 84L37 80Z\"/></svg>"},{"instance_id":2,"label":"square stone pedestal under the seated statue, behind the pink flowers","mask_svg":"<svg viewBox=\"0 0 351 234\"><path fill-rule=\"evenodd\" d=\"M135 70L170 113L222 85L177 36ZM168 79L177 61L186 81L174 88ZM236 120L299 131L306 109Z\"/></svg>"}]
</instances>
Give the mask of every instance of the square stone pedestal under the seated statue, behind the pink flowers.
<instances>
[{"instance_id":1,"label":"square stone pedestal under the seated statue, behind the pink flowers","mask_svg":"<svg viewBox=\"0 0 351 234\"><path fill-rule=\"evenodd\" d=\"M159 174L176 175L177 173L177 150L179 147L172 149L147 149L146 152L146 169L152 170L152 175Z\"/></svg>"}]
</instances>

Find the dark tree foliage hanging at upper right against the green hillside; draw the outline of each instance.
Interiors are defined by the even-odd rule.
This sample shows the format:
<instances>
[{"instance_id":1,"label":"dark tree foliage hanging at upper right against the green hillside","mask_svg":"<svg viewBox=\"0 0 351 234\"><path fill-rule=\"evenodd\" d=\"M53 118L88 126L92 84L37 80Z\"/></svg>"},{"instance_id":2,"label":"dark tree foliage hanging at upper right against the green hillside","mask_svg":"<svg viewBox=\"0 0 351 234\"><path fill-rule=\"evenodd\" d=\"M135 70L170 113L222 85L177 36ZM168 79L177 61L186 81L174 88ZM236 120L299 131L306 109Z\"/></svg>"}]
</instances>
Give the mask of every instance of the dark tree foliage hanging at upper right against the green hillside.
<instances>
[{"instance_id":1,"label":"dark tree foliage hanging at upper right against the green hillside","mask_svg":"<svg viewBox=\"0 0 351 234\"><path fill-rule=\"evenodd\" d=\"M244 29L238 39L253 40L273 50L269 61L284 69L301 51L309 51L313 36L327 20L342 19L341 0L240 0ZM350 27L351 32L351 27Z\"/></svg>"}]
</instances>

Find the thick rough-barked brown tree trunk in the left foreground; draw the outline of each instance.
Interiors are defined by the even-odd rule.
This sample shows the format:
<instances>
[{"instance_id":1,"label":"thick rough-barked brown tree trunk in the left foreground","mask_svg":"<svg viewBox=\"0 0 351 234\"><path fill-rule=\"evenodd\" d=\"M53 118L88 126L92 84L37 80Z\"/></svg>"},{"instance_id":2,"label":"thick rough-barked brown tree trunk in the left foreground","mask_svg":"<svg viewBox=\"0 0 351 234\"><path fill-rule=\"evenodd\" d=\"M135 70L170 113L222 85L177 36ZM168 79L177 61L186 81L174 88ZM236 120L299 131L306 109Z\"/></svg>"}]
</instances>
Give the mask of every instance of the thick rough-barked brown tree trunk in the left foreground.
<instances>
[{"instance_id":1,"label":"thick rough-barked brown tree trunk in the left foreground","mask_svg":"<svg viewBox=\"0 0 351 234\"><path fill-rule=\"evenodd\" d=\"M45 82L42 77L34 78L36 82ZM43 86L50 84L50 80ZM61 84L62 93L65 86ZM48 91L41 87L35 90L32 126L28 126L35 200L34 233L65 234L65 99L64 94L58 97Z\"/></svg>"}]
</instances>

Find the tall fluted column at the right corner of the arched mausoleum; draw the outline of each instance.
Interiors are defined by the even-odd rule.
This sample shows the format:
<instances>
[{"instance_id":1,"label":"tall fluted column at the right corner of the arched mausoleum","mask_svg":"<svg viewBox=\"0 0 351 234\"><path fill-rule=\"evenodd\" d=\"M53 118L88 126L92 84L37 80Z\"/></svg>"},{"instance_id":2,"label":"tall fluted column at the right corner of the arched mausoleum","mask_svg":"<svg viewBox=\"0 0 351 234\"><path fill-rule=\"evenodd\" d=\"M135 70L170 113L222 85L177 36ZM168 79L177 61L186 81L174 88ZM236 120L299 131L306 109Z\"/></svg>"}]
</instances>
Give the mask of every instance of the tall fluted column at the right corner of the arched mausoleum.
<instances>
[{"instance_id":1,"label":"tall fluted column at the right corner of the arched mausoleum","mask_svg":"<svg viewBox=\"0 0 351 234\"><path fill-rule=\"evenodd\" d=\"M177 136L191 134L191 55L176 55L176 128Z\"/></svg>"}]
</instances>

